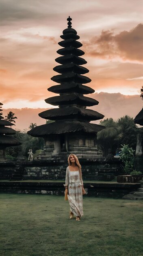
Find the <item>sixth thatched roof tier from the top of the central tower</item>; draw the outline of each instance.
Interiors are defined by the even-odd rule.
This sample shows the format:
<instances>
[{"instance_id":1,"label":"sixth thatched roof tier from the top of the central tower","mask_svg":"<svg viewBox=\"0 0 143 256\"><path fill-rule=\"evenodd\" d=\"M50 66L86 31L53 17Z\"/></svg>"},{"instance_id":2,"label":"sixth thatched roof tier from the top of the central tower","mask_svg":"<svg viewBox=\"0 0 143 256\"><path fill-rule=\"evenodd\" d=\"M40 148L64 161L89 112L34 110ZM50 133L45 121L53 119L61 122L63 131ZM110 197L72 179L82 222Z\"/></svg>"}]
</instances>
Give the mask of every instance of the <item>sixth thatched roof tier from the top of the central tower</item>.
<instances>
[{"instance_id":1,"label":"sixth thatched roof tier from the top of the central tower","mask_svg":"<svg viewBox=\"0 0 143 256\"><path fill-rule=\"evenodd\" d=\"M60 74L64 74L67 72L74 72L77 74L86 74L89 72L89 70L86 67L82 67L79 66L77 64L74 63L68 63L65 65L58 65L56 67L53 68L54 71L60 73Z\"/></svg>"}]
</instances>

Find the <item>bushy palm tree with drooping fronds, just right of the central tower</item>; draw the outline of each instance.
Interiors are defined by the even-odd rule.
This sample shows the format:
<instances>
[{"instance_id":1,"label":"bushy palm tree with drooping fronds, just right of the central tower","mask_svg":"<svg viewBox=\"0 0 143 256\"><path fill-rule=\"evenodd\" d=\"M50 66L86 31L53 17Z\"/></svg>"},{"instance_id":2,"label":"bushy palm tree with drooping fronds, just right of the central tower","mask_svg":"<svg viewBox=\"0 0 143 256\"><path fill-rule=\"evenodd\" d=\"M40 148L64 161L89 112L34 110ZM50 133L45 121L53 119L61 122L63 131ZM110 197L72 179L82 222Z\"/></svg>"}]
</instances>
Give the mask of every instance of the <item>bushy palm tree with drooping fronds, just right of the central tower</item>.
<instances>
[{"instance_id":1,"label":"bushy palm tree with drooping fronds, just right of the central tower","mask_svg":"<svg viewBox=\"0 0 143 256\"><path fill-rule=\"evenodd\" d=\"M115 153L115 149L118 147L122 137L121 128L113 118L104 119L104 121L100 121L100 124L106 126L106 128L98 132L97 139L104 149L106 157L108 155L108 148L111 148L111 151Z\"/></svg>"}]
</instances>

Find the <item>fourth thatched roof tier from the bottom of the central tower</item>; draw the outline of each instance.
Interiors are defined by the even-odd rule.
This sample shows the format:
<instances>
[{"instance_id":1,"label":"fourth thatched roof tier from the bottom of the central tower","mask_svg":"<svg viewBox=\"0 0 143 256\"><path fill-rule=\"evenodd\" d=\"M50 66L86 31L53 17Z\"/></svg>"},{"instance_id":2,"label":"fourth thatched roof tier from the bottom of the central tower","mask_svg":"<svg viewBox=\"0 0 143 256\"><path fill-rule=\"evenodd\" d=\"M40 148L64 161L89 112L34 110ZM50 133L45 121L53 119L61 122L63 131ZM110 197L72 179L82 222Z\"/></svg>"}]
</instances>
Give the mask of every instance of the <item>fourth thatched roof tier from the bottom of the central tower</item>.
<instances>
[{"instance_id":1,"label":"fourth thatched roof tier from the bottom of the central tower","mask_svg":"<svg viewBox=\"0 0 143 256\"><path fill-rule=\"evenodd\" d=\"M61 85L53 85L50 88L48 88L48 91L54 93L77 92L80 94L89 94L95 92L95 90L93 90L89 86L78 83L62 83Z\"/></svg>"}]
</instances>

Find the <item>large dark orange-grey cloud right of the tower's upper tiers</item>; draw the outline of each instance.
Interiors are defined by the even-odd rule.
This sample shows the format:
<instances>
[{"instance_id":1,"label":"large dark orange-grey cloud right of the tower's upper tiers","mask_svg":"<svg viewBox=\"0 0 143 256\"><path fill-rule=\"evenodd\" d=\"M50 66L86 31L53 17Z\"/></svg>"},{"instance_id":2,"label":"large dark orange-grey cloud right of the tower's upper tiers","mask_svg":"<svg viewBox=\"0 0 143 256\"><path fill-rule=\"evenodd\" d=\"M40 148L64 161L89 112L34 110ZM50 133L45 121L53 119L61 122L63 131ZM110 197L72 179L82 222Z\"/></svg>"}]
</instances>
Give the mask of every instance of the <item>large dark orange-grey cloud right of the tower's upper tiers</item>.
<instances>
[{"instance_id":1,"label":"large dark orange-grey cloud right of the tower's upper tiers","mask_svg":"<svg viewBox=\"0 0 143 256\"><path fill-rule=\"evenodd\" d=\"M113 31L102 31L100 36L84 42L85 51L91 56L143 61L143 24L130 31L114 35Z\"/></svg>"}]
</instances>

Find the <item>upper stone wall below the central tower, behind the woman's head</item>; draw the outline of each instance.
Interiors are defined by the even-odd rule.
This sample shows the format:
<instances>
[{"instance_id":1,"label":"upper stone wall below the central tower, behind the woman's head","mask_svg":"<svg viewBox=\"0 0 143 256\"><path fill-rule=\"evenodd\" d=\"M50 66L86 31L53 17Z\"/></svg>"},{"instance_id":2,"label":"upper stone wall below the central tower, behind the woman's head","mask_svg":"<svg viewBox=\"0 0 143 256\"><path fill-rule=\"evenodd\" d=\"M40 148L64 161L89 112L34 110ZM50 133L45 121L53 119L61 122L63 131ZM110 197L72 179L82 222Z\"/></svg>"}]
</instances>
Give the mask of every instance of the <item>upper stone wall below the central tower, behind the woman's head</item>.
<instances>
[{"instance_id":1,"label":"upper stone wall below the central tower, behind the woman's head","mask_svg":"<svg viewBox=\"0 0 143 256\"><path fill-rule=\"evenodd\" d=\"M80 159L83 180L113 180L121 174L119 159ZM0 166L0 180L65 180L67 159L21 161Z\"/></svg>"}]
</instances>

